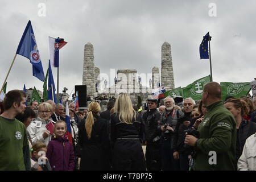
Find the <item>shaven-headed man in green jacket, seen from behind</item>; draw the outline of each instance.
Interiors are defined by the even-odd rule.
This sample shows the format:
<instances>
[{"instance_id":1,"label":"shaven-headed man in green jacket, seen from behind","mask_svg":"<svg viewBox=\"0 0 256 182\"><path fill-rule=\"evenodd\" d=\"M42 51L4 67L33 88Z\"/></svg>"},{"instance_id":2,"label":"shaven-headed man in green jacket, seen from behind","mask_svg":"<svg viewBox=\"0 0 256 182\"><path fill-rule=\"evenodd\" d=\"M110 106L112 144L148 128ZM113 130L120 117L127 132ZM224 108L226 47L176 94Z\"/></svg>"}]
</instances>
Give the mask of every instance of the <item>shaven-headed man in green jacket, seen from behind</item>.
<instances>
[{"instance_id":1,"label":"shaven-headed man in green jacket, seen from behind","mask_svg":"<svg viewBox=\"0 0 256 182\"><path fill-rule=\"evenodd\" d=\"M200 138L187 135L185 143L195 147L194 170L236 170L236 120L221 101L221 86L204 86L203 104L207 114L200 123Z\"/></svg>"}]
</instances>

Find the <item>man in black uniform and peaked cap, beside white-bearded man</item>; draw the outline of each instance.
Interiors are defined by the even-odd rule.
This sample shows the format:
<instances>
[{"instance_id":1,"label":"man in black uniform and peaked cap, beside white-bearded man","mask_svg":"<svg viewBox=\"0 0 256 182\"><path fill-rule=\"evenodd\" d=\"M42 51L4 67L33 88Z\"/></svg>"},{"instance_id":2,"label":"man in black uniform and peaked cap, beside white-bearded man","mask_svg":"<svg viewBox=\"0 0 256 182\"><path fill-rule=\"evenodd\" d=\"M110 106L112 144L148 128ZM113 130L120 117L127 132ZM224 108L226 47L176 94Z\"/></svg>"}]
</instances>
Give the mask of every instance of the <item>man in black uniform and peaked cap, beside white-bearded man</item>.
<instances>
[{"instance_id":1,"label":"man in black uniform and peaked cap, beside white-bearded man","mask_svg":"<svg viewBox=\"0 0 256 182\"><path fill-rule=\"evenodd\" d=\"M156 109L158 101L154 99L148 100L148 111L143 114L142 121L145 125L146 135L146 166L148 171L161 170L160 156L160 131L158 123L161 114Z\"/></svg>"}]
</instances>

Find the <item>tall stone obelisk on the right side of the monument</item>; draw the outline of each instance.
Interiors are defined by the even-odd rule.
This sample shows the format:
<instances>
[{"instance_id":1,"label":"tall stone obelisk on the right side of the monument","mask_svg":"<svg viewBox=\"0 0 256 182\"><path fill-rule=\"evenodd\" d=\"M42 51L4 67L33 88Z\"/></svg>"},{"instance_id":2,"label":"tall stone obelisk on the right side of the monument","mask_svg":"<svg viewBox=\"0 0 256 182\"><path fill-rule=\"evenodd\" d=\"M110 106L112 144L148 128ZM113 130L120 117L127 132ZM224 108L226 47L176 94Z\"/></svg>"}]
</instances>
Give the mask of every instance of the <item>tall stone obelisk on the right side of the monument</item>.
<instances>
[{"instance_id":1,"label":"tall stone obelisk on the right side of the monument","mask_svg":"<svg viewBox=\"0 0 256 182\"><path fill-rule=\"evenodd\" d=\"M167 90L174 89L174 70L172 68L171 45L167 42L162 46L161 86Z\"/></svg>"}]
</instances>

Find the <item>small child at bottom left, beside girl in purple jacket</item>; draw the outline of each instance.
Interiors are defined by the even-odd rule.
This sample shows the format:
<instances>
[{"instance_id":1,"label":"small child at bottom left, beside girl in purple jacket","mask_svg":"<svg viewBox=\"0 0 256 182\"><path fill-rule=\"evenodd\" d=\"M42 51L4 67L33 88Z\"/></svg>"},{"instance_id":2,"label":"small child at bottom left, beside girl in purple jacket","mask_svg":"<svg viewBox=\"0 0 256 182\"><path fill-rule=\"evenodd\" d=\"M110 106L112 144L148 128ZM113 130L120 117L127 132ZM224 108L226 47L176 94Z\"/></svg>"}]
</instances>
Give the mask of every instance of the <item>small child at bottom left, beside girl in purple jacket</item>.
<instances>
[{"instance_id":1,"label":"small child at bottom left, beside girl in purple jacket","mask_svg":"<svg viewBox=\"0 0 256 182\"><path fill-rule=\"evenodd\" d=\"M31 148L31 170L52 171L49 160L46 158L47 147L43 142L35 143Z\"/></svg>"}]
</instances>

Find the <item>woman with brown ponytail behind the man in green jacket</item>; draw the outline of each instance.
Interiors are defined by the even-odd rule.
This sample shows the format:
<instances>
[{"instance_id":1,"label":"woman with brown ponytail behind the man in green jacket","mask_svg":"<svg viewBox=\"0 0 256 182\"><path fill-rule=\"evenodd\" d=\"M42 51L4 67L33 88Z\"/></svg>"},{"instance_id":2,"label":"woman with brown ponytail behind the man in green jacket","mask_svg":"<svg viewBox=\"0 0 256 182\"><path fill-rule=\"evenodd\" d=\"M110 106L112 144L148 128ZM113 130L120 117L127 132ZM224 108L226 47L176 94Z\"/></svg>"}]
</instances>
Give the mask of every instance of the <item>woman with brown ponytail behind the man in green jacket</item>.
<instances>
[{"instance_id":1,"label":"woman with brown ponytail behind the man in green jacket","mask_svg":"<svg viewBox=\"0 0 256 182\"><path fill-rule=\"evenodd\" d=\"M249 110L247 104L241 98L229 98L225 102L225 107L233 114L237 122L237 147L236 147L236 162L242 155L243 146L245 145L245 140L250 137L250 135L256 132L256 123L246 121L243 116L246 115Z\"/></svg>"}]
</instances>

